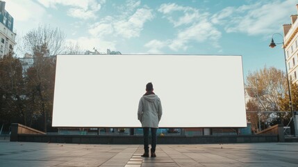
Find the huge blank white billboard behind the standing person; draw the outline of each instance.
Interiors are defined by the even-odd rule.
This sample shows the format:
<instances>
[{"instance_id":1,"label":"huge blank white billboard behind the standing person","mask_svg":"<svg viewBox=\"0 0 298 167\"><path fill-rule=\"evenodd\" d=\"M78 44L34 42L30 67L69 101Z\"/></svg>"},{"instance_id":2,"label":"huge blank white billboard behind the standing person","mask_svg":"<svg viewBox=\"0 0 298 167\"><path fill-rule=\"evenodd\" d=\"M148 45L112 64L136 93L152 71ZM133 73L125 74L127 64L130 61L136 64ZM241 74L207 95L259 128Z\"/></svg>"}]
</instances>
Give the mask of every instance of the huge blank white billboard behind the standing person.
<instances>
[{"instance_id":1,"label":"huge blank white billboard behind the standing person","mask_svg":"<svg viewBox=\"0 0 298 167\"><path fill-rule=\"evenodd\" d=\"M160 127L246 127L241 56L58 55L53 127L141 127L148 82Z\"/></svg>"}]
</instances>

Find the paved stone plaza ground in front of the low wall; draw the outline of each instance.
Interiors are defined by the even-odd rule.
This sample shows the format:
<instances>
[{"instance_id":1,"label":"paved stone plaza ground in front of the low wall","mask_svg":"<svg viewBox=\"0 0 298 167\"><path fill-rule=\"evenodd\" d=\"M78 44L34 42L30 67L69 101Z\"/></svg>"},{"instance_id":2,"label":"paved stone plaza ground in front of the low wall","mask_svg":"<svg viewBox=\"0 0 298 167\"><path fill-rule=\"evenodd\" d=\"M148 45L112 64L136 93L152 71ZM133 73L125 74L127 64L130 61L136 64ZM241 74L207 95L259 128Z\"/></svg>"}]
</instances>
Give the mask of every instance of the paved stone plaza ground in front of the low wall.
<instances>
[{"instance_id":1,"label":"paved stone plaza ground in front of the low wall","mask_svg":"<svg viewBox=\"0 0 298 167\"><path fill-rule=\"evenodd\" d=\"M158 145L26 143L0 140L0 166L298 166L298 143Z\"/></svg>"}]
</instances>

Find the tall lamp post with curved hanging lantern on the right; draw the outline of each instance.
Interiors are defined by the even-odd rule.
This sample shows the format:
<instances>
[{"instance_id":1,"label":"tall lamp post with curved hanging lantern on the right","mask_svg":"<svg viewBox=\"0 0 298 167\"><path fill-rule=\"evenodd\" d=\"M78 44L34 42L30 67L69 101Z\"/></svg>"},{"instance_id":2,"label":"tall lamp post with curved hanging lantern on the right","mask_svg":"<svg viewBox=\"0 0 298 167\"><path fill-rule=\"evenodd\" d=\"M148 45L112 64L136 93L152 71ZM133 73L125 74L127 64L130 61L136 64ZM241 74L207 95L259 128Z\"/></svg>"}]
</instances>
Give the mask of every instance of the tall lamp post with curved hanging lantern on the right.
<instances>
[{"instance_id":1,"label":"tall lamp post with curved hanging lantern on the right","mask_svg":"<svg viewBox=\"0 0 298 167\"><path fill-rule=\"evenodd\" d=\"M285 57L285 43L284 41L281 42L281 43L275 43L274 40L273 40L273 36L274 35L281 35L280 33L274 33L272 34L272 38L271 38L271 43L269 45L269 47L271 48L274 48L276 47L276 44L277 45L280 45L282 44L283 45L283 56ZM281 35L281 38L283 39L283 35ZM287 82L288 82L288 90L289 90L289 104L290 104L290 110L291 110L291 113L292 113L292 118L291 120L293 121L293 124L295 124L295 121L294 121L294 110L293 110L293 106L292 106L292 96L291 96L291 90L290 90L290 81L289 81L289 77L288 77L288 68L287 68L287 58L285 57L285 74L287 76ZM294 136L295 136L295 125L294 125Z\"/></svg>"}]
</instances>

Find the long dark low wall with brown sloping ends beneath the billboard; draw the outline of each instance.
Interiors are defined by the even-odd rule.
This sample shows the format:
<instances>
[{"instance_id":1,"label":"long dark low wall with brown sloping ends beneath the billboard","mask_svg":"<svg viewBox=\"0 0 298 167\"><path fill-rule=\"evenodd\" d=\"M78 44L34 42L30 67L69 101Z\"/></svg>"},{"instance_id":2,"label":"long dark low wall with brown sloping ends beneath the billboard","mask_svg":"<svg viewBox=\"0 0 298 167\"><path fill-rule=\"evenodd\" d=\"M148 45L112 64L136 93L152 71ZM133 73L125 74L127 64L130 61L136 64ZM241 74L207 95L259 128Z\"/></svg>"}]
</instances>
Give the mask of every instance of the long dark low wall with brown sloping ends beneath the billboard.
<instances>
[{"instance_id":1,"label":"long dark low wall with brown sloping ends beneath the billboard","mask_svg":"<svg viewBox=\"0 0 298 167\"><path fill-rule=\"evenodd\" d=\"M45 134L20 124L11 125L10 141L76 144L142 144L142 135ZM283 142L283 125L274 125L255 135L158 136L158 144Z\"/></svg>"}]
</instances>

